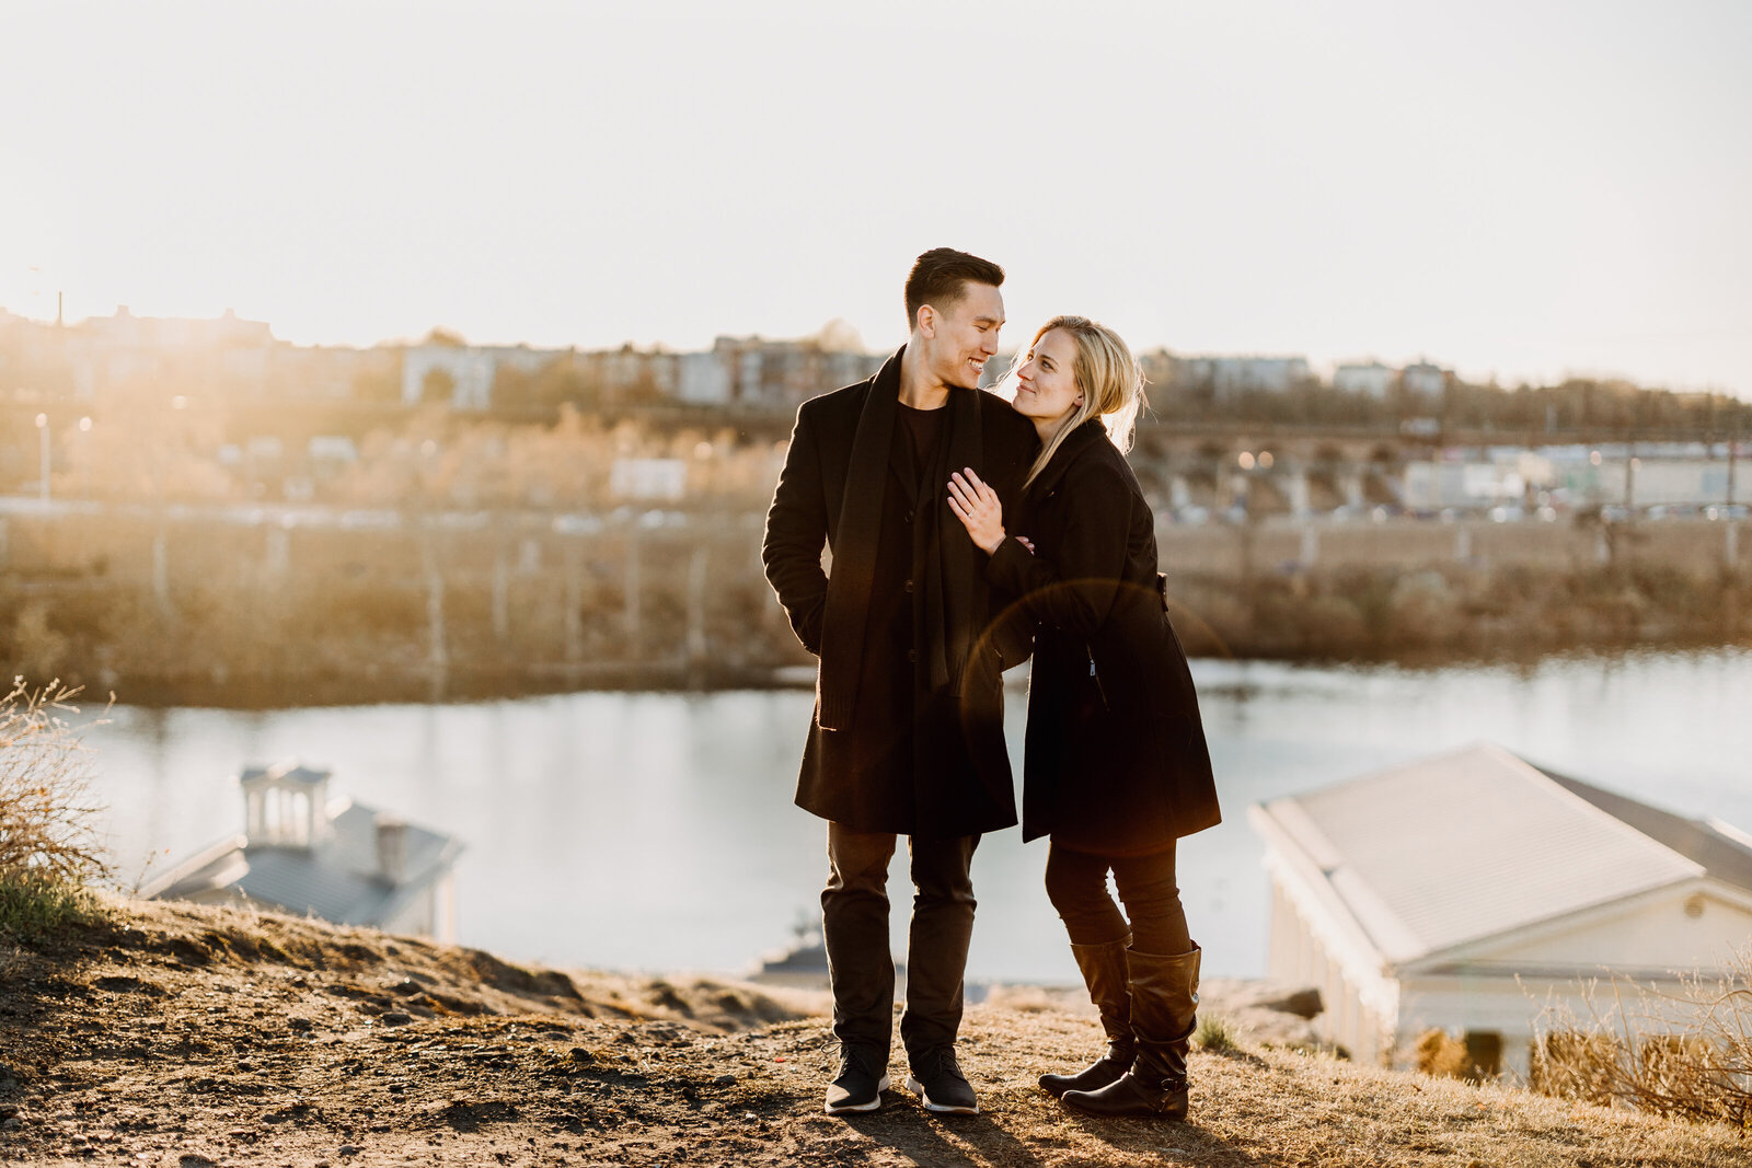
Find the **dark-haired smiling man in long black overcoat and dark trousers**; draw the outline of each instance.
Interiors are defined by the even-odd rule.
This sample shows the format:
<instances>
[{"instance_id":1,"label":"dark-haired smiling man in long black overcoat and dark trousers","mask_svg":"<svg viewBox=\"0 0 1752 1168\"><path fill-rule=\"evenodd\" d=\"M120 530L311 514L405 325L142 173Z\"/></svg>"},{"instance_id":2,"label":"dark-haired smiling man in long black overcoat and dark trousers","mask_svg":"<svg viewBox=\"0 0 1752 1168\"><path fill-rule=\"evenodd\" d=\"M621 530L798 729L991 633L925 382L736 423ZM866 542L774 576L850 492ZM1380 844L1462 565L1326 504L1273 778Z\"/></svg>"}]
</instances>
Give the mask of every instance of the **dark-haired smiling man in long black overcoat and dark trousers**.
<instances>
[{"instance_id":1,"label":"dark-haired smiling man in long black overcoat and dark trousers","mask_svg":"<svg viewBox=\"0 0 1752 1168\"><path fill-rule=\"evenodd\" d=\"M939 247L906 280L911 334L869 380L797 410L762 560L804 648L820 657L797 806L827 825L822 933L839 1073L827 1110L874 1110L888 1087L894 958L888 862L908 835L908 1089L934 1112L979 1110L955 1059L981 832L1016 823L1004 749L986 557L948 510L974 468L1016 501L1037 441L979 375L997 354L997 264ZM822 546L832 553L822 569Z\"/></svg>"}]
</instances>

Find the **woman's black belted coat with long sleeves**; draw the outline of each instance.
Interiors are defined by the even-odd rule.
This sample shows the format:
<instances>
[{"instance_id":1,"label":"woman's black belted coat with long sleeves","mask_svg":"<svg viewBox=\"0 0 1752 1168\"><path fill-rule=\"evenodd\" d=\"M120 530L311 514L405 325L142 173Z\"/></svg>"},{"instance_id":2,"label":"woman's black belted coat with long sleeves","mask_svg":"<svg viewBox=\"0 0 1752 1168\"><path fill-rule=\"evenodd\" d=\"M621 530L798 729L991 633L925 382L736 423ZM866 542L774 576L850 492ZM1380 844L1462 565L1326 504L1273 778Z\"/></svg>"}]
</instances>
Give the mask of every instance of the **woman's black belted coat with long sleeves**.
<instances>
[{"instance_id":1,"label":"woman's black belted coat with long sleeves","mask_svg":"<svg viewBox=\"0 0 1752 1168\"><path fill-rule=\"evenodd\" d=\"M986 571L1035 623L1023 839L1135 856L1216 825L1198 697L1158 592L1156 520L1100 420L1065 438L1004 527Z\"/></svg>"}]
</instances>

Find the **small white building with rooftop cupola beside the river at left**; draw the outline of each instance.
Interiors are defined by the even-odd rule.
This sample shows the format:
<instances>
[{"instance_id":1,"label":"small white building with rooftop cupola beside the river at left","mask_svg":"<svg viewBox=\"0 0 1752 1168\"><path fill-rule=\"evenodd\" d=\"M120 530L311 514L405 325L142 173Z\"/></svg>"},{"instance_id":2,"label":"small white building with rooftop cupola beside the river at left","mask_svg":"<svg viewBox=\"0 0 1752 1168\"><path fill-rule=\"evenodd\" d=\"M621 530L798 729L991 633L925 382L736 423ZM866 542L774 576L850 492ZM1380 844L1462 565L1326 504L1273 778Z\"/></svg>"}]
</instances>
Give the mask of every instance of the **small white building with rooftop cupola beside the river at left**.
<instances>
[{"instance_id":1,"label":"small white building with rooftop cupola beside the river at left","mask_svg":"<svg viewBox=\"0 0 1752 1168\"><path fill-rule=\"evenodd\" d=\"M463 844L359 802L331 804L329 777L301 765L244 770L244 835L189 856L140 895L454 940L452 865Z\"/></svg>"}]
</instances>

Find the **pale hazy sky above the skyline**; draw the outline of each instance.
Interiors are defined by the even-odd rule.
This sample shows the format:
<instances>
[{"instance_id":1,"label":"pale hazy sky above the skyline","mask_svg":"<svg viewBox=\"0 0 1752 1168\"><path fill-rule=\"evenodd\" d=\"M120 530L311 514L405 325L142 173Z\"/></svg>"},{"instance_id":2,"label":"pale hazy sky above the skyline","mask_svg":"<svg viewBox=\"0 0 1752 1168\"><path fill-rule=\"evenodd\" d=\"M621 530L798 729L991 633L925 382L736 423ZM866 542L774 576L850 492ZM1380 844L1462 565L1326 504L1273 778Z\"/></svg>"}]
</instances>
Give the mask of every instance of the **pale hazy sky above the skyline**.
<instances>
[{"instance_id":1,"label":"pale hazy sky above the skyline","mask_svg":"<svg viewBox=\"0 0 1752 1168\"><path fill-rule=\"evenodd\" d=\"M0 0L0 306L300 343L904 340L1752 398L1752 4Z\"/></svg>"}]
</instances>

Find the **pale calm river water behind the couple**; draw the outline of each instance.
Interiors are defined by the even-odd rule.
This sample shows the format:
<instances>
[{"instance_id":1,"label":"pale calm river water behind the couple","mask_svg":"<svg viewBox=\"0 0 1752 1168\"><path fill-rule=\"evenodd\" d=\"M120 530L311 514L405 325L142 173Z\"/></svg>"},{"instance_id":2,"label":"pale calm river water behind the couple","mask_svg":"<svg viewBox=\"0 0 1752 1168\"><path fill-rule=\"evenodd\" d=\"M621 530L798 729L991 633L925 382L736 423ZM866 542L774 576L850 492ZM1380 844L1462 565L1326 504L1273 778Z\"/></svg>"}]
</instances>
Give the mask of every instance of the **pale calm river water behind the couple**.
<instances>
[{"instance_id":1,"label":"pale calm river water behind the couple","mask_svg":"<svg viewBox=\"0 0 1752 1168\"><path fill-rule=\"evenodd\" d=\"M1752 828L1752 653L1633 653L1529 667L1198 660L1225 823L1181 844L1212 975L1265 968L1253 802L1494 741L1687 816ZM450 706L240 713L117 707L88 732L123 883L242 830L237 772L298 758L333 793L459 835L457 939L510 960L746 972L816 911L823 825L792 806L804 692L573 693ZM1023 695L1009 695L1020 758ZM974 858L976 979L1076 982L1041 890L1046 842ZM909 888L894 865L895 949Z\"/></svg>"}]
</instances>

